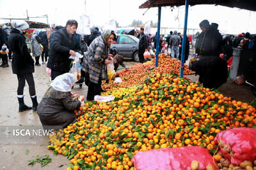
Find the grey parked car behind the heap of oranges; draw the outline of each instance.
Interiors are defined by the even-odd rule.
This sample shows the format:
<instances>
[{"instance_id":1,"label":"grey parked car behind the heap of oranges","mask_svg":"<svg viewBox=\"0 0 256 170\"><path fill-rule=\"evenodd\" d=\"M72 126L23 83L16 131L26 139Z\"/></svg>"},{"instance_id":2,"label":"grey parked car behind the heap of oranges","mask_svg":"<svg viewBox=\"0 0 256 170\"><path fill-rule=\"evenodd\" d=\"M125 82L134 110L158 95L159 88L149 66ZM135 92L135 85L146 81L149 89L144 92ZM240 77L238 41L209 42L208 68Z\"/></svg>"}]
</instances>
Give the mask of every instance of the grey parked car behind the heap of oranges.
<instances>
[{"instance_id":1,"label":"grey parked car behind the heap of oranges","mask_svg":"<svg viewBox=\"0 0 256 170\"><path fill-rule=\"evenodd\" d=\"M114 43L111 44L111 48L116 48L119 55L139 62L139 41L140 39L131 35L116 35L116 39Z\"/></svg>"}]
</instances>

